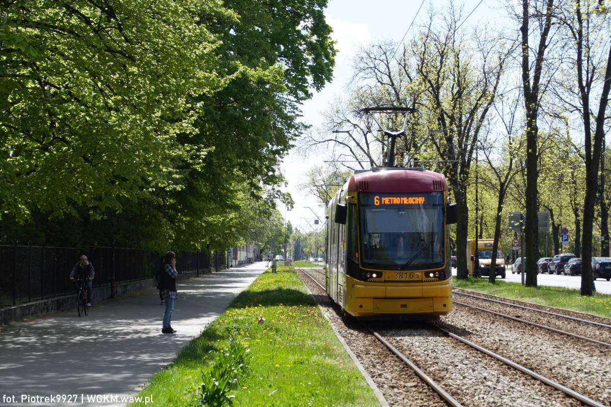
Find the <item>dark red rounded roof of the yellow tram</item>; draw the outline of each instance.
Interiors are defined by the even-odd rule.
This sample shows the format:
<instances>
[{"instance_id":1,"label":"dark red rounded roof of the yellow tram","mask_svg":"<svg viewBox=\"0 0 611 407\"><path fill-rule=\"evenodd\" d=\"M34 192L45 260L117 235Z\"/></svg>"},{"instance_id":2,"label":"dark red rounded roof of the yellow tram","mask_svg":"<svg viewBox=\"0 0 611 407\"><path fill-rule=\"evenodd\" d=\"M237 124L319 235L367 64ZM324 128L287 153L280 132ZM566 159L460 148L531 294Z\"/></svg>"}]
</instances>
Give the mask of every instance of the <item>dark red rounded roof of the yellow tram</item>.
<instances>
[{"instance_id":1,"label":"dark red rounded roof of the yellow tram","mask_svg":"<svg viewBox=\"0 0 611 407\"><path fill-rule=\"evenodd\" d=\"M433 171L411 168L379 168L350 177L348 190L353 192L437 192L447 190L445 176Z\"/></svg>"}]
</instances>

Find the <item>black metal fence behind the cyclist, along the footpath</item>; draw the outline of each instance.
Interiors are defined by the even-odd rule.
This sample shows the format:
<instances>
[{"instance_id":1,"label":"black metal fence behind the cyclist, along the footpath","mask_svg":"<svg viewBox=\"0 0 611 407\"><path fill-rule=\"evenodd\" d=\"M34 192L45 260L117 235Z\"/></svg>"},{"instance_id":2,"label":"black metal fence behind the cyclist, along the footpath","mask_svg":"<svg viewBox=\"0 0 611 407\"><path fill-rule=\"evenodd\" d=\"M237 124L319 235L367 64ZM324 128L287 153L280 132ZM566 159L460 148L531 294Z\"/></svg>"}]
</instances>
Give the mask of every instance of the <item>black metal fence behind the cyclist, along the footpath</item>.
<instances>
[{"instance_id":1,"label":"black metal fence behind the cyclist, along the footpath","mask_svg":"<svg viewBox=\"0 0 611 407\"><path fill-rule=\"evenodd\" d=\"M93 287L154 278L160 253L144 249L0 245L0 307L73 294L69 276L85 254L95 269ZM218 270L225 253L177 252L178 272Z\"/></svg>"}]
</instances>

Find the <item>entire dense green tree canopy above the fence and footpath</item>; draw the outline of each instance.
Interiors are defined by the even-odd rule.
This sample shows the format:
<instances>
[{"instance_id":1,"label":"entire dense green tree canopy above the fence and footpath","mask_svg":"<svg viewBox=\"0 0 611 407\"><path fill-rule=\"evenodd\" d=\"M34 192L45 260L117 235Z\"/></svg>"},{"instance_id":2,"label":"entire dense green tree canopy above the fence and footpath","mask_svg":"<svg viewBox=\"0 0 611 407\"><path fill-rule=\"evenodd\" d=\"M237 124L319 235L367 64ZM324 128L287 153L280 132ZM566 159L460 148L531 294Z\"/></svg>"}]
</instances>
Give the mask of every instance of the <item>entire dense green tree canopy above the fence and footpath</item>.
<instances>
[{"instance_id":1,"label":"entire dense green tree canopy above the fence and footpath","mask_svg":"<svg viewBox=\"0 0 611 407\"><path fill-rule=\"evenodd\" d=\"M257 236L292 203L278 164L299 104L332 77L324 7L2 3L2 228L160 250Z\"/></svg>"}]
</instances>

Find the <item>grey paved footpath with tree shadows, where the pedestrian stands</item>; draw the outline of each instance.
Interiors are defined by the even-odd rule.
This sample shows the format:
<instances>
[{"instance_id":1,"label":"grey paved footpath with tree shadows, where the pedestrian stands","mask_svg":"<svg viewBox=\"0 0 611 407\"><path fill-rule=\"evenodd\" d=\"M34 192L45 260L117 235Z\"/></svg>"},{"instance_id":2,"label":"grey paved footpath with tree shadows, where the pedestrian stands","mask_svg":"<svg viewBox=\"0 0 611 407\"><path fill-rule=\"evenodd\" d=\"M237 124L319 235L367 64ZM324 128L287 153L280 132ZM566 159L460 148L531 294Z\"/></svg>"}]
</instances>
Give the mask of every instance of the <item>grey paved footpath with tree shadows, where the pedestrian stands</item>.
<instances>
[{"instance_id":1,"label":"grey paved footpath with tree shadows, where the pedestrian stands","mask_svg":"<svg viewBox=\"0 0 611 407\"><path fill-rule=\"evenodd\" d=\"M100 301L80 318L75 308L0 328L0 406L124 406L120 397L135 396L265 269L255 262L179 281L175 334L161 333L156 289Z\"/></svg>"}]
</instances>

